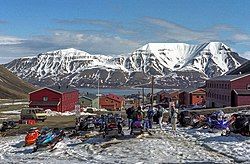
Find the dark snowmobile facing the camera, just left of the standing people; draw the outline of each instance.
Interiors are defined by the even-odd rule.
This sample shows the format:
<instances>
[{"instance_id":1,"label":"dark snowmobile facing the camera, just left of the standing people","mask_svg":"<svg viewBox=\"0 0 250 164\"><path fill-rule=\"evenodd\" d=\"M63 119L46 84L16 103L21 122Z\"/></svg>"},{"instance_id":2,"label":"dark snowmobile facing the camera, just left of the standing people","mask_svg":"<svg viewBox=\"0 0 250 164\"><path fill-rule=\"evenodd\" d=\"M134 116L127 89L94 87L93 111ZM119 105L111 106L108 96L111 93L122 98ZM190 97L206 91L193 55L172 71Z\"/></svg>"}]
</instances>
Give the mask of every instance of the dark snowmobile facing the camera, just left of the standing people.
<instances>
[{"instance_id":1,"label":"dark snowmobile facing the camera, just left of the standing people","mask_svg":"<svg viewBox=\"0 0 250 164\"><path fill-rule=\"evenodd\" d=\"M118 135L124 135L122 125L114 116L109 116L104 126L103 138L107 136L116 137Z\"/></svg>"}]
</instances>

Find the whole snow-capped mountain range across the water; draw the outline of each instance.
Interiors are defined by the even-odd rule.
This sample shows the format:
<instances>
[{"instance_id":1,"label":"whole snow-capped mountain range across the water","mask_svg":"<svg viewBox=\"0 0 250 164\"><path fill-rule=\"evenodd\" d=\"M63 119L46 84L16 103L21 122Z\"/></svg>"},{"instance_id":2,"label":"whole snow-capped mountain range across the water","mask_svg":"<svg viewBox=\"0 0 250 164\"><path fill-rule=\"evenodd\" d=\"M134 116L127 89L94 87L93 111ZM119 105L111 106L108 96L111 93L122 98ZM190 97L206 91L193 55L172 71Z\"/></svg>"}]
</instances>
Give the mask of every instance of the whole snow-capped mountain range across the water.
<instances>
[{"instance_id":1,"label":"whole snow-capped mountain range across the water","mask_svg":"<svg viewBox=\"0 0 250 164\"><path fill-rule=\"evenodd\" d=\"M128 56L91 55L73 48L13 60L5 66L37 85L55 83L95 86L135 86L156 77L164 87L187 87L218 76L245 61L220 42L201 45L148 43Z\"/></svg>"}]
</instances>

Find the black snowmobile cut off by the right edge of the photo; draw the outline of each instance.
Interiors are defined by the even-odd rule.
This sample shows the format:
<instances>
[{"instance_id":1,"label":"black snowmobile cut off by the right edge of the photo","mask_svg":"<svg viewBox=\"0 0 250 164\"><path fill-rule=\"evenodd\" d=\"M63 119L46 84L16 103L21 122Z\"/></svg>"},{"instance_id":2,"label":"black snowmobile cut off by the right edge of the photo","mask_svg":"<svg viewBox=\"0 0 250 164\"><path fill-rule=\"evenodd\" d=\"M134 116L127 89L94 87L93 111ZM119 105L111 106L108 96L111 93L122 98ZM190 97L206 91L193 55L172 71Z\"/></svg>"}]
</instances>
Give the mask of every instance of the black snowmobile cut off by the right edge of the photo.
<instances>
[{"instance_id":1,"label":"black snowmobile cut off by the right edge of the photo","mask_svg":"<svg viewBox=\"0 0 250 164\"><path fill-rule=\"evenodd\" d=\"M230 132L250 136L250 113L237 113L231 116Z\"/></svg>"}]
</instances>

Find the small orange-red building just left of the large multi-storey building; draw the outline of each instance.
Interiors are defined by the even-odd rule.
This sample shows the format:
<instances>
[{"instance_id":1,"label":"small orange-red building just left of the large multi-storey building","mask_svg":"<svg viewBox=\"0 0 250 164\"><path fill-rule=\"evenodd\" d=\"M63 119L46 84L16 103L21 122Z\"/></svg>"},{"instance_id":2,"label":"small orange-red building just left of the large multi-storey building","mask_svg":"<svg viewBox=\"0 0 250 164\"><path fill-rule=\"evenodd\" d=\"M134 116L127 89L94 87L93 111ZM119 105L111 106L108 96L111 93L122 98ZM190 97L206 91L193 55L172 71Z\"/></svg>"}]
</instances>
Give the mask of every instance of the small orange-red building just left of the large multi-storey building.
<instances>
[{"instance_id":1,"label":"small orange-red building just left of the large multi-storey building","mask_svg":"<svg viewBox=\"0 0 250 164\"><path fill-rule=\"evenodd\" d=\"M179 94L180 105L205 105L206 90L203 88L187 89Z\"/></svg>"}]
</instances>

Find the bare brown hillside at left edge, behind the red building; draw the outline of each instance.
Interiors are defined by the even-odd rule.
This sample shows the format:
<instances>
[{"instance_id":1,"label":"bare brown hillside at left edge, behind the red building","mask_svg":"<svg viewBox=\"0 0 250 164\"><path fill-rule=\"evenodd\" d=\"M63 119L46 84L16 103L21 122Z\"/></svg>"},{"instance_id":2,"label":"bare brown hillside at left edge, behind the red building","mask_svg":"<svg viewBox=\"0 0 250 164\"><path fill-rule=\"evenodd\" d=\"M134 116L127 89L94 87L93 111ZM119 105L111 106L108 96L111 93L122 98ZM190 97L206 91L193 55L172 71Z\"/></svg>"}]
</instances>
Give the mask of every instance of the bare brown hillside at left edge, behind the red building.
<instances>
[{"instance_id":1,"label":"bare brown hillside at left edge, behind the red building","mask_svg":"<svg viewBox=\"0 0 250 164\"><path fill-rule=\"evenodd\" d=\"M34 86L24 82L0 65L0 99L25 99Z\"/></svg>"}]
</instances>

